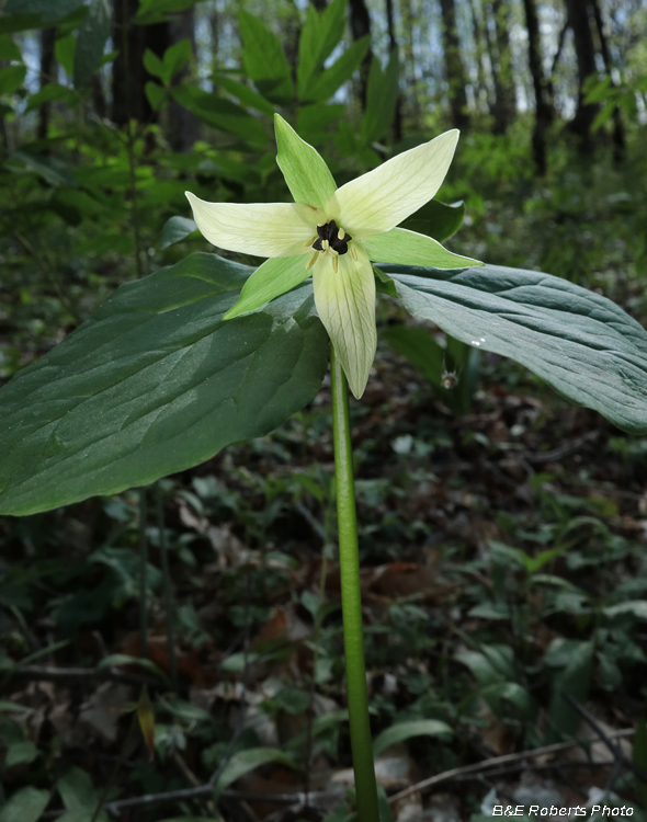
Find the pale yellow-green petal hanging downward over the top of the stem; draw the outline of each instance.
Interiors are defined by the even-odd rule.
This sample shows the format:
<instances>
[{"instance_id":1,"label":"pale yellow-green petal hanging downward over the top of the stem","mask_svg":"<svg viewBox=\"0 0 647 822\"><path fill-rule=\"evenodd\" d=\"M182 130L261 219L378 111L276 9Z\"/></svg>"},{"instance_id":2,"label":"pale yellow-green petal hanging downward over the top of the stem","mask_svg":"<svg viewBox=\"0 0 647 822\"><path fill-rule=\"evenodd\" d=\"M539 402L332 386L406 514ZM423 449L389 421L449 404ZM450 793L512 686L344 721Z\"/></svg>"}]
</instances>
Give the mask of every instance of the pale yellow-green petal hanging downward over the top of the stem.
<instances>
[{"instance_id":1,"label":"pale yellow-green petal hanging downward over the top of the stem","mask_svg":"<svg viewBox=\"0 0 647 822\"><path fill-rule=\"evenodd\" d=\"M359 399L366 388L375 349L375 278L366 252L354 243L352 254L332 258L319 254L313 269L317 313L330 336L353 395Z\"/></svg>"}]
</instances>

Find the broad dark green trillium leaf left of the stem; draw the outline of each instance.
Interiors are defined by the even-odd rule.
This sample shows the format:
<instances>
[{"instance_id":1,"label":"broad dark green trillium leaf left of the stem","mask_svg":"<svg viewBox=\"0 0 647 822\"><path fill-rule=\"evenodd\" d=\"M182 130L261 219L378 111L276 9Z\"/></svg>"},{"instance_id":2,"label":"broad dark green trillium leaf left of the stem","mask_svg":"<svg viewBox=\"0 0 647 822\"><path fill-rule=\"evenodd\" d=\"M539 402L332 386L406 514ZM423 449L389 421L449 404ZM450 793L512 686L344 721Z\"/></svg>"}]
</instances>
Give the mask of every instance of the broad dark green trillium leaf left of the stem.
<instances>
[{"instance_id":1,"label":"broad dark green trillium leaf left of the stem","mask_svg":"<svg viewBox=\"0 0 647 822\"><path fill-rule=\"evenodd\" d=\"M262 436L317 393L311 286L223 321L252 272L192 254L118 288L0 390L0 511L148 484Z\"/></svg>"}]
</instances>

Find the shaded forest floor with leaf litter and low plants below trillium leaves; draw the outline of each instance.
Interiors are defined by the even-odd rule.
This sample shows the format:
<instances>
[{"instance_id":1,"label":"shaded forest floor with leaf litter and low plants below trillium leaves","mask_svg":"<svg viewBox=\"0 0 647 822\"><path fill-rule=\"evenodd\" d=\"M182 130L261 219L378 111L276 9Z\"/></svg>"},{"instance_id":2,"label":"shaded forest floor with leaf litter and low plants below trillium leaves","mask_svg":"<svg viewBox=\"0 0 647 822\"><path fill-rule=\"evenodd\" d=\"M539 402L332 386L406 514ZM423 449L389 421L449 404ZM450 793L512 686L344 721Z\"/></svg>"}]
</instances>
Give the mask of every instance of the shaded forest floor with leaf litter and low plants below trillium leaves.
<instances>
[{"instance_id":1,"label":"shaded forest floor with leaf litter and low plants below trillium leaves","mask_svg":"<svg viewBox=\"0 0 647 822\"><path fill-rule=\"evenodd\" d=\"M50 789L44 818L67 809L71 820L82 801L205 785L225 757L240 774L227 772L225 819L344 819L329 409L327 378L272 435L161 481L163 532L148 494L147 665L114 655L143 655L139 494L2 521L7 794ZM454 416L381 344L351 412L372 723L394 818L476 822L498 803L639 808L645 442L495 355L481 355L472 408ZM405 722L395 741L379 735ZM605 734L623 731L612 751ZM644 767L644 723L638 738ZM282 755L250 768L257 754L245 752L263 747ZM314 809L295 813L290 798L306 790ZM217 814L197 791L120 818Z\"/></svg>"}]
</instances>

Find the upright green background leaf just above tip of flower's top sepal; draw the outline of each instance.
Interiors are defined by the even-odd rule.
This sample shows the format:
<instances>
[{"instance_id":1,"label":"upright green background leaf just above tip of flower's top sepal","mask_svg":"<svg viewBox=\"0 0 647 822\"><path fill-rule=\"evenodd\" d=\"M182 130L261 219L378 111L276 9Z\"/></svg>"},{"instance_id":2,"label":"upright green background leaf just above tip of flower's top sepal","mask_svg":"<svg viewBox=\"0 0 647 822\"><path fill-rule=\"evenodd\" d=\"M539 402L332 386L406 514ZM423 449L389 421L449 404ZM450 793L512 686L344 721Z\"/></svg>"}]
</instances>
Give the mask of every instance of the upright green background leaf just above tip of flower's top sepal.
<instances>
[{"instance_id":1,"label":"upright green background leaf just above tip of flower's top sepal","mask_svg":"<svg viewBox=\"0 0 647 822\"><path fill-rule=\"evenodd\" d=\"M279 37L245 9L238 15L238 25L242 39L242 62L257 89L272 102L292 101L294 84Z\"/></svg>"}]
</instances>

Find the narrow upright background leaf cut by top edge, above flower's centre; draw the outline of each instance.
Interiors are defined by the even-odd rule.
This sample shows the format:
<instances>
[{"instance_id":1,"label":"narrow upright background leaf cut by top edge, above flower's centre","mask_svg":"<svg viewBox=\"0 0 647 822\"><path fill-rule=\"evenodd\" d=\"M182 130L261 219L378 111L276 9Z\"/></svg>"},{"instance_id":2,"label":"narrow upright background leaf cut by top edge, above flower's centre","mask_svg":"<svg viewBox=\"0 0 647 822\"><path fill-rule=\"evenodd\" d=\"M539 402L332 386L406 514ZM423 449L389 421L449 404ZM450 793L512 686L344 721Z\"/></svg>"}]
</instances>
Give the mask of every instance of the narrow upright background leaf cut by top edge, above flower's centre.
<instances>
[{"instance_id":1,"label":"narrow upright background leaf cut by top edge, above flower's centre","mask_svg":"<svg viewBox=\"0 0 647 822\"><path fill-rule=\"evenodd\" d=\"M308 4L306 23L298 43L297 88L299 100L307 96L313 76L324 66L326 58L343 35L347 0L332 0L319 13Z\"/></svg>"}]
</instances>

